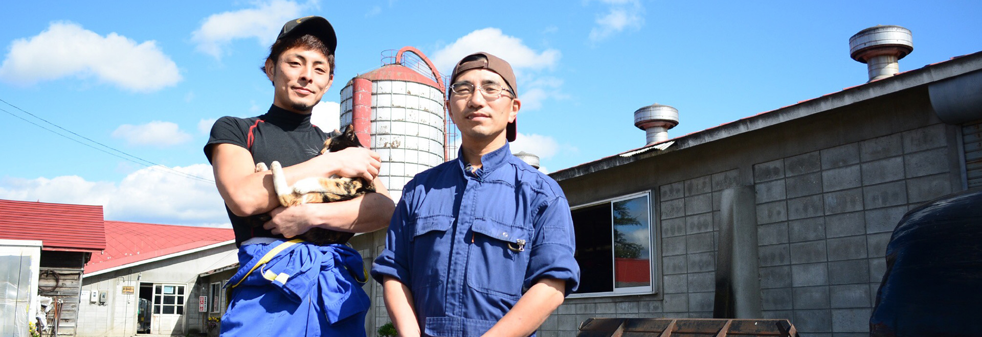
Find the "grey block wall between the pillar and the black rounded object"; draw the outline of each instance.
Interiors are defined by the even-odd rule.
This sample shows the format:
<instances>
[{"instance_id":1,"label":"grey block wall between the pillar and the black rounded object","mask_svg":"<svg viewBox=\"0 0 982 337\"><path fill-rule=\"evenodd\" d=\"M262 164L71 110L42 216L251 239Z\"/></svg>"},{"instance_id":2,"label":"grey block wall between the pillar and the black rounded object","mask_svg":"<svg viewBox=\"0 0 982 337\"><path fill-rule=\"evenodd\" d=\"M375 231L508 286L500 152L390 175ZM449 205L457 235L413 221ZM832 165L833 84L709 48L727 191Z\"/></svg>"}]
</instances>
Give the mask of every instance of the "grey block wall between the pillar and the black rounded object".
<instances>
[{"instance_id":1,"label":"grey block wall between the pillar and the black rounded object","mask_svg":"<svg viewBox=\"0 0 982 337\"><path fill-rule=\"evenodd\" d=\"M946 137L933 124L753 165L764 316L868 334L894 227L952 192Z\"/></svg>"}]
</instances>

